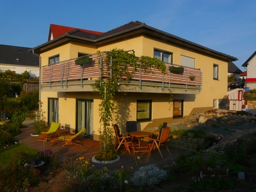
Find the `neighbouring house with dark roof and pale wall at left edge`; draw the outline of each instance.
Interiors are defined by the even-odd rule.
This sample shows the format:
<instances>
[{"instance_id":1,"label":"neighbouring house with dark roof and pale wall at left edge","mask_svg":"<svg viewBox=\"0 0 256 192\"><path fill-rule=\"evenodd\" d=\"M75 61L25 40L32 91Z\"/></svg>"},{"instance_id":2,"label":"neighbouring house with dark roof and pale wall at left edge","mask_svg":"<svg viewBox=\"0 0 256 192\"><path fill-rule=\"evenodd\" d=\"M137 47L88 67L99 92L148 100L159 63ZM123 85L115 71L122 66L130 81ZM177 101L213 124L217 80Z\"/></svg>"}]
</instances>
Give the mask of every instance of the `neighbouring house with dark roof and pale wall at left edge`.
<instances>
[{"instance_id":1,"label":"neighbouring house with dark roof and pale wall at left edge","mask_svg":"<svg viewBox=\"0 0 256 192\"><path fill-rule=\"evenodd\" d=\"M39 76L39 58L29 47L0 45L0 72L11 70L15 74L27 71L30 77Z\"/></svg>"}]
</instances>

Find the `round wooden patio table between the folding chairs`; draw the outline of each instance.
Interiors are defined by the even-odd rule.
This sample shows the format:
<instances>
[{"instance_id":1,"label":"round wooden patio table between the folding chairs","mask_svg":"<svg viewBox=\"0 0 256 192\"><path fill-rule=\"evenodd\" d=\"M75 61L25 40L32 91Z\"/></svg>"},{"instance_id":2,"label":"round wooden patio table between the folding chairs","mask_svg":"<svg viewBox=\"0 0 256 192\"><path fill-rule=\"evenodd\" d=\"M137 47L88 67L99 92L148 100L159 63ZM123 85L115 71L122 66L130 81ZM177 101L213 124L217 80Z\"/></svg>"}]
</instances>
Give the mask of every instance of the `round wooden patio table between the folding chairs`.
<instances>
[{"instance_id":1,"label":"round wooden patio table between the folding chairs","mask_svg":"<svg viewBox=\"0 0 256 192\"><path fill-rule=\"evenodd\" d=\"M140 143L140 139L141 138L149 138L150 136L152 136L152 132L147 132L147 131L132 131L128 133L129 135L131 135L132 137L132 141L134 138L138 138L138 147L136 147L136 143L132 142L132 149L133 149L133 153L135 154L136 152L149 152L149 149L147 149L148 147L141 147L141 143ZM135 143L135 145L134 145Z\"/></svg>"}]
</instances>

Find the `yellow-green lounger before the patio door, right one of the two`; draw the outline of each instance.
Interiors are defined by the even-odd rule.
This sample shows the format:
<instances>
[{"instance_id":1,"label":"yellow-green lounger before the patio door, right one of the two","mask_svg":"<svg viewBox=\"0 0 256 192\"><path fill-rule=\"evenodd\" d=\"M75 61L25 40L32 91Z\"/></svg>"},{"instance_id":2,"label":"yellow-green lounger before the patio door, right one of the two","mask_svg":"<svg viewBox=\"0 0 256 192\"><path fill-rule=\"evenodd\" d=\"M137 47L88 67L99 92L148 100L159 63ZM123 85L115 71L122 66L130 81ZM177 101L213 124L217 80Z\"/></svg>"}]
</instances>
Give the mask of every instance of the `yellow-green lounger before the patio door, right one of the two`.
<instances>
[{"instance_id":1,"label":"yellow-green lounger before the patio door, right one of the two","mask_svg":"<svg viewBox=\"0 0 256 192\"><path fill-rule=\"evenodd\" d=\"M77 132L77 134L74 134L73 136L60 136L56 139L53 139L53 140L51 140L51 142L52 142L51 146L54 145L54 143L56 141L64 141L65 143L62 145L62 147L65 145L83 146L83 142L77 141L76 139L77 139L77 136L79 136L80 134L82 134L85 131L86 131L86 129L83 128L83 129L81 129L81 131Z\"/></svg>"}]
</instances>

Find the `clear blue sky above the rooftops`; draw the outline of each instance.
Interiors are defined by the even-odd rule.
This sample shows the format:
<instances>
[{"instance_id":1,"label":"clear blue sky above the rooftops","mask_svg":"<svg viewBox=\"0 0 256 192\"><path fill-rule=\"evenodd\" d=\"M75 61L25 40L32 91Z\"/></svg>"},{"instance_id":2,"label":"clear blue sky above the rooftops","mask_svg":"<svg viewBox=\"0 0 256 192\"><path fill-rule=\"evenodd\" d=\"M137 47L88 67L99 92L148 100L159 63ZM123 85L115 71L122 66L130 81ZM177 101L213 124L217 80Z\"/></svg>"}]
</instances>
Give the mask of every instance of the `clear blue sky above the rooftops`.
<instances>
[{"instance_id":1,"label":"clear blue sky above the rooftops","mask_svg":"<svg viewBox=\"0 0 256 192\"><path fill-rule=\"evenodd\" d=\"M234 56L244 71L241 65L256 51L255 10L255 0L1 0L0 44L44 44L50 24L106 32L139 20Z\"/></svg>"}]
</instances>

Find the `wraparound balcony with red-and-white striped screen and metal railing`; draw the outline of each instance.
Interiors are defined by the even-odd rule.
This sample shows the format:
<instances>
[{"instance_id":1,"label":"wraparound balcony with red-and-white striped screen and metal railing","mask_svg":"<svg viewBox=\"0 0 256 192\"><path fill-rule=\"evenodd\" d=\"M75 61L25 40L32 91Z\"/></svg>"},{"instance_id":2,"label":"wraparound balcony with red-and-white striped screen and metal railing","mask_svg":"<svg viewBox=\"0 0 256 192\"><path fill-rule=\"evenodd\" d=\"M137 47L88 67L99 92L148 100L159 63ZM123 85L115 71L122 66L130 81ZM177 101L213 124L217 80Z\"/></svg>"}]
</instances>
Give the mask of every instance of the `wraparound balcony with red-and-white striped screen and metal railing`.
<instances>
[{"instance_id":1,"label":"wraparound balcony with red-and-white striped screen and metal railing","mask_svg":"<svg viewBox=\"0 0 256 192\"><path fill-rule=\"evenodd\" d=\"M106 54L101 53L101 57ZM42 88L50 92L92 92L92 84L95 79L105 79L111 71L108 71L107 64L100 60L99 54L90 55L92 63L76 65L75 60L61 61L53 65L42 67ZM108 63L111 65L111 63ZM123 86L125 92L143 93L186 93L198 94L202 88L202 72L200 69L183 67L183 72L172 72L170 66L179 65L166 64L166 73L156 68L151 72L145 72L137 68L134 72L129 86ZM128 67L132 71L132 67ZM195 79L189 78L194 76ZM122 86L122 83L121 83Z\"/></svg>"}]
</instances>

